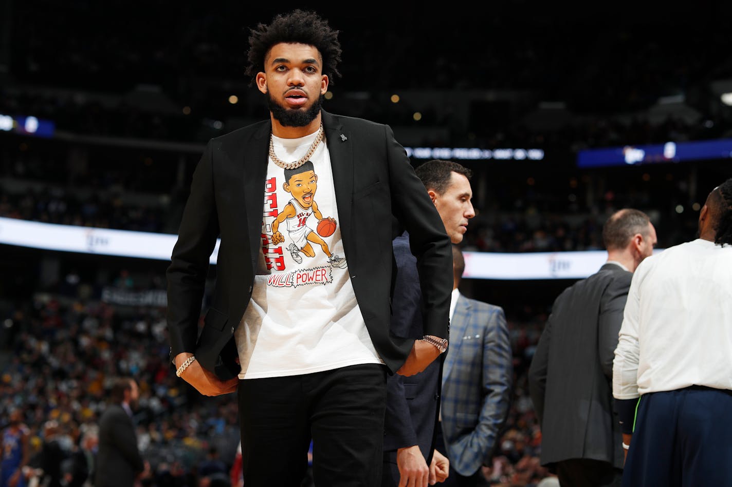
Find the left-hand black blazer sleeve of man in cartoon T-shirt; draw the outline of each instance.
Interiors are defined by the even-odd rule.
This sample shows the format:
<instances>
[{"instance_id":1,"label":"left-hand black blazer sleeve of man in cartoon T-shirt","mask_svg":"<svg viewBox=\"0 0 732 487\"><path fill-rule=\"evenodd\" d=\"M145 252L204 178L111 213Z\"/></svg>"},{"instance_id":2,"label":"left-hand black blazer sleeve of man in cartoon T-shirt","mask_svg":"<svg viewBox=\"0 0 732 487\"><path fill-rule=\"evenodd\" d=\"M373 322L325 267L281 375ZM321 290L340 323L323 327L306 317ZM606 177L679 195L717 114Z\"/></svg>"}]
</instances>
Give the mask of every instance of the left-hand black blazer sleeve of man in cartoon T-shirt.
<instances>
[{"instance_id":1,"label":"left-hand black blazer sleeve of man in cartoon T-shirt","mask_svg":"<svg viewBox=\"0 0 732 487\"><path fill-rule=\"evenodd\" d=\"M166 271L171 360L180 352L193 352L198 338L206 275L219 235L213 154L214 143L209 141L193 173L178 240Z\"/></svg>"}]
</instances>

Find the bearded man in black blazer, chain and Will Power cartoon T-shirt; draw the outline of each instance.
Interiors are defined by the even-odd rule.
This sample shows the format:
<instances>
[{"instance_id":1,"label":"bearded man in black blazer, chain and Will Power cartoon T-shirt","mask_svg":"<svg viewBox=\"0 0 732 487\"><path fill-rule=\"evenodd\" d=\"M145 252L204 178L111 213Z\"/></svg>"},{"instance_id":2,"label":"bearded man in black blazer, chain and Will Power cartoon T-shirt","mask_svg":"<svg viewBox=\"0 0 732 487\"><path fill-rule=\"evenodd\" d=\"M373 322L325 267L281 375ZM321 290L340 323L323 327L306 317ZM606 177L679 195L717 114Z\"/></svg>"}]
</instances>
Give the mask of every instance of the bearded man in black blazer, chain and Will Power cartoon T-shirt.
<instances>
[{"instance_id":1,"label":"bearded man in black blazer, chain and Will Power cartoon T-shirt","mask_svg":"<svg viewBox=\"0 0 732 487\"><path fill-rule=\"evenodd\" d=\"M406 151L321 107L337 34L302 10L252 29L270 117L209 141L167 272L171 360L204 395L238 391L247 486L299 485L310 439L318 485L378 485L386 376L422 371L439 355L422 336L448 336L450 241ZM389 334L393 218L419 257L420 339Z\"/></svg>"}]
</instances>

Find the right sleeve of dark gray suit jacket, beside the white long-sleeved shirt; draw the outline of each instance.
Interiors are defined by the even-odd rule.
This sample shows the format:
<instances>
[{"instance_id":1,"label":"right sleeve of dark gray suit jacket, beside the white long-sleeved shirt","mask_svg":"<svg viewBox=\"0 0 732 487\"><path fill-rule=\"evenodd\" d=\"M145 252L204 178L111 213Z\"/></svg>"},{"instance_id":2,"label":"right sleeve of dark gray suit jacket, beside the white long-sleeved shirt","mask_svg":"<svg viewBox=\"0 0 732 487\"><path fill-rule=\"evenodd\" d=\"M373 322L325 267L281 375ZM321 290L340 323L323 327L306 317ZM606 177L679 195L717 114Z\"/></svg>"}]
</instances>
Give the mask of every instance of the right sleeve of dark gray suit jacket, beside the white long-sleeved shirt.
<instances>
[{"instance_id":1,"label":"right sleeve of dark gray suit jacket, beside the white long-sleeved shirt","mask_svg":"<svg viewBox=\"0 0 732 487\"><path fill-rule=\"evenodd\" d=\"M618 346L623 312L630 289L630 272L616 272L605 287L600 298L600 316L597 322L597 353L600 357L602 372L608 380L613 379L613 360Z\"/></svg>"}]
</instances>

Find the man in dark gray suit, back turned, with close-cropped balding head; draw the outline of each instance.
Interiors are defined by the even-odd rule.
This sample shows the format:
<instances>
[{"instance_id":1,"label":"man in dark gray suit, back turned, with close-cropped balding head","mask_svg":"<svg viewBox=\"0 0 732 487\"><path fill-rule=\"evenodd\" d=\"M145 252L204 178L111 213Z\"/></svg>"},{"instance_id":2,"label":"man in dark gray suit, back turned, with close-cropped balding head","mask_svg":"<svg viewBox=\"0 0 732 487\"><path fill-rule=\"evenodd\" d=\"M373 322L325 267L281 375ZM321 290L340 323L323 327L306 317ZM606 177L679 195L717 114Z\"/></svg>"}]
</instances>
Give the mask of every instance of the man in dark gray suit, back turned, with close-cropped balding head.
<instances>
[{"instance_id":1,"label":"man in dark gray suit, back turned, with close-cropped balding head","mask_svg":"<svg viewBox=\"0 0 732 487\"><path fill-rule=\"evenodd\" d=\"M619 486L623 449L613 409L613 358L632 273L653 253L642 211L616 211L602 227L608 260L556 298L529 367L542 431L541 463L562 487Z\"/></svg>"}]
</instances>

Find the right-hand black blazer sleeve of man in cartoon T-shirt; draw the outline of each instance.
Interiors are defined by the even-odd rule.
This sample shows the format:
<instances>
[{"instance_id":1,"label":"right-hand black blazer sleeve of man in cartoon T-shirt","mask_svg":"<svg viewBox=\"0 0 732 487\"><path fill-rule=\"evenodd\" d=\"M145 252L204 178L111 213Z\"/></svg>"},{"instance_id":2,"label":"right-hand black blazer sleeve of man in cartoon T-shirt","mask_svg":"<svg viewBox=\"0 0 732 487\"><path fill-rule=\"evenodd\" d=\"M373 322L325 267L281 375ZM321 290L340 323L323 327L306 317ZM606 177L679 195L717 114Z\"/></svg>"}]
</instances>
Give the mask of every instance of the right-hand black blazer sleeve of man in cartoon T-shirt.
<instances>
[{"instance_id":1,"label":"right-hand black blazer sleeve of man in cartoon T-shirt","mask_svg":"<svg viewBox=\"0 0 732 487\"><path fill-rule=\"evenodd\" d=\"M406 151L386 127L392 211L409 233L417 257L424 334L449 337L452 247L435 204L411 166Z\"/></svg>"}]
</instances>

